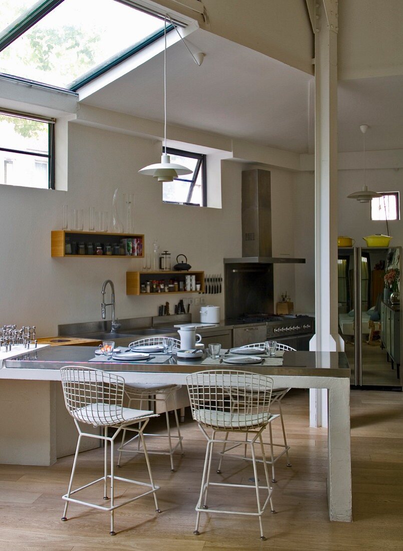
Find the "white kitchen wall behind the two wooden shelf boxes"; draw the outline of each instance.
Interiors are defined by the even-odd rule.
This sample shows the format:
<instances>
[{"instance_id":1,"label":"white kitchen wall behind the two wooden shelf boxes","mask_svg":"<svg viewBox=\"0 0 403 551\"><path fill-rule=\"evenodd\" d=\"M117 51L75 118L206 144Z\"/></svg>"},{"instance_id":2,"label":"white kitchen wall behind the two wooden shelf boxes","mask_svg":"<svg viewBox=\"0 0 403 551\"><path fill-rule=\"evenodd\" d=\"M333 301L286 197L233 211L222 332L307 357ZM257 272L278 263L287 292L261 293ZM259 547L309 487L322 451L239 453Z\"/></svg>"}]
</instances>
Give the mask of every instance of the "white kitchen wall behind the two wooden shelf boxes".
<instances>
[{"instance_id":1,"label":"white kitchen wall behind the two wooden shelf boxes","mask_svg":"<svg viewBox=\"0 0 403 551\"><path fill-rule=\"evenodd\" d=\"M237 165L222 164L222 209L183 207L163 204L161 184L138 174L159 155L159 143L69 123L67 192L0 187L1 324L36 325L41 337L57 334L59 323L100 320L107 278L115 283L118 317L157 314L165 296L126 296L126 271L141 269L140 259L50 256L62 205L85 209L85 229L89 206L111 213L116 187L134 192L135 232L145 234L149 251L157 237L172 259L184 253L192 268L224 273L222 258L237 256L241 247ZM179 298L170 300L172 311ZM224 306L224 293L207 298Z\"/></svg>"}]
</instances>

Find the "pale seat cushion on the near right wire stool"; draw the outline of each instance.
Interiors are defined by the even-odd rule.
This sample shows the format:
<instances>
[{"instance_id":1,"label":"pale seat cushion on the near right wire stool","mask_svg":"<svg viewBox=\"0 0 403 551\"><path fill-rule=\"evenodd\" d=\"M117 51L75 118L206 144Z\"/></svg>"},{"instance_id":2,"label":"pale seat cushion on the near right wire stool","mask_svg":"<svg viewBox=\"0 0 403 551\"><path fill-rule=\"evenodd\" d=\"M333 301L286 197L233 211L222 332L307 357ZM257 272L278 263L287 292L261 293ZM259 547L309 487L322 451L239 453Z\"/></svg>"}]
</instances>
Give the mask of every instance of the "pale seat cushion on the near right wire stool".
<instances>
[{"instance_id":1,"label":"pale seat cushion on the near right wire stool","mask_svg":"<svg viewBox=\"0 0 403 551\"><path fill-rule=\"evenodd\" d=\"M280 415L270 413L230 413L218 412L215 409L199 409L194 412L197 422L204 425L216 426L222 429L242 429L253 426L263 426L271 423Z\"/></svg>"}]
</instances>

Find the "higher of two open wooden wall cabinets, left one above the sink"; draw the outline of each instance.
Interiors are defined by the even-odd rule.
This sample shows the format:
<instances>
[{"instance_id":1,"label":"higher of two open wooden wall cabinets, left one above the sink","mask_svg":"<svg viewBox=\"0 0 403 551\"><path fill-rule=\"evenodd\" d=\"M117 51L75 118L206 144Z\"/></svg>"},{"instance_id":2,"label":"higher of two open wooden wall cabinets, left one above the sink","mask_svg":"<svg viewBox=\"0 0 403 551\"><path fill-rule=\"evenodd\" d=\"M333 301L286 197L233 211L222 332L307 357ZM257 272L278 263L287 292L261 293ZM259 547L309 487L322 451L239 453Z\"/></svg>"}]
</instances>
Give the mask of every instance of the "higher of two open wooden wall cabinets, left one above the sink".
<instances>
[{"instance_id":1,"label":"higher of two open wooden wall cabinets, left one above the sink","mask_svg":"<svg viewBox=\"0 0 403 551\"><path fill-rule=\"evenodd\" d=\"M130 239L135 245L135 254L116 255L113 245L120 245L123 239ZM84 254L75 254L66 252L73 243L84 243ZM96 254L95 244L102 245L102 255ZM94 254L88 254L88 245L92 244ZM105 254L106 246L111 247L111 255ZM73 250L73 249L72 249ZM144 257L144 234L116 234L96 231L75 231L75 230L56 230L51 235L51 256L52 257L86 257L86 258L143 258Z\"/></svg>"}]
</instances>

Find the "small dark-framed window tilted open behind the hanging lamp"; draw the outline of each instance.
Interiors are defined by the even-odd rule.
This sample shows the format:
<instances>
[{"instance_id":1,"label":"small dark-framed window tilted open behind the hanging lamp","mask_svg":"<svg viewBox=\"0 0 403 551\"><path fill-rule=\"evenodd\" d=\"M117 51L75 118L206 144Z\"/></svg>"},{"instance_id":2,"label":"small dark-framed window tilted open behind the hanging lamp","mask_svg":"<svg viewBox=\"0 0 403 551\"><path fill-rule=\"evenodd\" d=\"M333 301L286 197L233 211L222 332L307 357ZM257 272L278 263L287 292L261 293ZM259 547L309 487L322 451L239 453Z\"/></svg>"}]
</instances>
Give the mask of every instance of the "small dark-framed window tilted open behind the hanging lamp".
<instances>
[{"instance_id":1,"label":"small dark-framed window tilted open behind the hanging lamp","mask_svg":"<svg viewBox=\"0 0 403 551\"><path fill-rule=\"evenodd\" d=\"M206 207L206 155L168 147L166 152L171 156L171 163L186 166L192 172L176 178L172 182L164 182L162 184L162 201Z\"/></svg>"}]
</instances>

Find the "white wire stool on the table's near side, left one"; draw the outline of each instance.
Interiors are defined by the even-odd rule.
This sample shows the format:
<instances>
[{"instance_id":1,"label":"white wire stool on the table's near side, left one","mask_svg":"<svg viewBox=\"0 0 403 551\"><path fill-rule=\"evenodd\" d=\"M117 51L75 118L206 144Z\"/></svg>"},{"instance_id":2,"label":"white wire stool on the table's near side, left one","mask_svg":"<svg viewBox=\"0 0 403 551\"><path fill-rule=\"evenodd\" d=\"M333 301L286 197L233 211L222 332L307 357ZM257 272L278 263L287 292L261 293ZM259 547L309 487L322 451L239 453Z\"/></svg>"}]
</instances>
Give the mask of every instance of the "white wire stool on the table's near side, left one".
<instances>
[{"instance_id":1,"label":"white wire stool on the table's near side, left one","mask_svg":"<svg viewBox=\"0 0 403 551\"><path fill-rule=\"evenodd\" d=\"M122 507L122 505L131 503L132 501L135 501L145 495L153 494L156 511L161 512L155 495L155 492L159 490L160 487L154 484L150 461L143 436L143 430L149 422L150 417L157 417L157 415L149 410L123 407L123 399L126 395L124 389L124 379L118 375L99 369L85 368L77 365L66 365L61 368L60 372L62 377L64 402L66 403L66 408L69 414L74 419L74 423L75 426L77 426L79 434L67 494L63 495L62 498L66 501L62 521L67 521L67 507L70 501L73 503L86 505L88 507L94 507L94 509L100 509L101 511L109 511L111 520L110 534L111 536L115 536L116 532L113 526L113 512L118 507ZM81 430L78 422L92 426L99 426L104 429L104 434L99 435L85 433ZM133 424L138 424L138 428L133 426ZM108 436L107 431L110 426L117 429L113 436ZM114 444L117 435L122 429L131 430L138 433L141 441L143 442L145 461L150 477L150 483L115 476L113 472ZM77 467L78 454L80 450L80 442L83 436L104 440L104 476L97 478L96 480L92 480L92 482L85 484L80 488L72 490L73 478ZM108 473L107 461L108 442L110 442L111 447L110 473ZM110 480L110 498L107 496L108 479ZM90 503L89 501L81 501L71 497L80 490L101 482L101 480L104 480L104 500L110 499L110 505L108 507ZM135 498L127 499L126 501L123 501L123 503L115 505L115 480L122 480L123 482L130 484L139 484L150 489Z\"/></svg>"}]
</instances>

